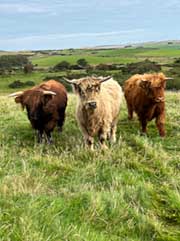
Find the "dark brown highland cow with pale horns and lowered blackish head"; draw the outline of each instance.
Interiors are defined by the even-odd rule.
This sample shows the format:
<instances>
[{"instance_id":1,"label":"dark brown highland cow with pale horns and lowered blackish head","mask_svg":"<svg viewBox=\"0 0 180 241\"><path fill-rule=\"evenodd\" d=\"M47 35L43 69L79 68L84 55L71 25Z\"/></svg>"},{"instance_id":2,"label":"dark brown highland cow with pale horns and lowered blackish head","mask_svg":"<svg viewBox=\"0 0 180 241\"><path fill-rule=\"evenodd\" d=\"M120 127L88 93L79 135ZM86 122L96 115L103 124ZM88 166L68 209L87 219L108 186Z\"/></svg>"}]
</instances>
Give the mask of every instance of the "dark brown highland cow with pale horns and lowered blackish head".
<instances>
[{"instance_id":1,"label":"dark brown highland cow with pale horns and lowered blackish head","mask_svg":"<svg viewBox=\"0 0 180 241\"><path fill-rule=\"evenodd\" d=\"M26 108L32 127L38 131L38 142L42 142L45 133L48 143L51 143L51 132L56 125L61 131L64 123L67 105L65 87L55 80L49 80L10 96L16 97L15 102L20 103L23 109Z\"/></svg>"}]
</instances>

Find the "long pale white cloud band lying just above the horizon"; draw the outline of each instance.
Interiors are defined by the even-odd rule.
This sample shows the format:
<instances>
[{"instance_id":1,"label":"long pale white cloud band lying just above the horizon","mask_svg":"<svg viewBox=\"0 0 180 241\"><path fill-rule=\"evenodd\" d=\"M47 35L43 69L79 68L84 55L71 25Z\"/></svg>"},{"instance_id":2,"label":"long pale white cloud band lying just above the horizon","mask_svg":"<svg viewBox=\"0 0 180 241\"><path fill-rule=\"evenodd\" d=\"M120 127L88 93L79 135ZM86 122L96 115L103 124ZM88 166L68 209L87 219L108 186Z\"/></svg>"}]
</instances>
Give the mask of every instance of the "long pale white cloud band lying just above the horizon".
<instances>
[{"instance_id":1,"label":"long pale white cloud band lying just above the horizon","mask_svg":"<svg viewBox=\"0 0 180 241\"><path fill-rule=\"evenodd\" d=\"M113 40L117 44L122 43L122 41L125 43L128 42L128 39L134 38L134 36L141 36L143 33L143 29L132 29L118 32L63 33L11 37L1 38L0 46L6 50L80 48L97 44L110 44L113 43Z\"/></svg>"}]
</instances>

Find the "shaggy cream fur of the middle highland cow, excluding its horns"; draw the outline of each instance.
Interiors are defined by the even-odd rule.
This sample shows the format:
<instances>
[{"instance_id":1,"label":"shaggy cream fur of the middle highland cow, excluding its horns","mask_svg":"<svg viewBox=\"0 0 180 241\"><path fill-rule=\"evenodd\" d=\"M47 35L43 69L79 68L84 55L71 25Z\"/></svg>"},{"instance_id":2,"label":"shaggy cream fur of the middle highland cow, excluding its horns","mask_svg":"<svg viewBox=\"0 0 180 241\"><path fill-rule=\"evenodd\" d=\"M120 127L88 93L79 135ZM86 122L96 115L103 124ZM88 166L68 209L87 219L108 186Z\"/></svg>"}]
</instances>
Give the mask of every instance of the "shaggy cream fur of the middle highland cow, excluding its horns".
<instances>
[{"instance_id":1,"label":"shaggy cream fur of the middle highland cow, excluding its horns","mask_svg":"<svg viewBox=\"0 0 180 241\"><path fill-rule=\"evenodd\" d=\"M77 120L86 144L93 149L97 135L101 146L107 148L106 139L116 141L116 125L122 101L120 85L112 78L101 83L100 79L86 77L76 80L74 89L79 96Z\"/></svg>"}]
</instances>

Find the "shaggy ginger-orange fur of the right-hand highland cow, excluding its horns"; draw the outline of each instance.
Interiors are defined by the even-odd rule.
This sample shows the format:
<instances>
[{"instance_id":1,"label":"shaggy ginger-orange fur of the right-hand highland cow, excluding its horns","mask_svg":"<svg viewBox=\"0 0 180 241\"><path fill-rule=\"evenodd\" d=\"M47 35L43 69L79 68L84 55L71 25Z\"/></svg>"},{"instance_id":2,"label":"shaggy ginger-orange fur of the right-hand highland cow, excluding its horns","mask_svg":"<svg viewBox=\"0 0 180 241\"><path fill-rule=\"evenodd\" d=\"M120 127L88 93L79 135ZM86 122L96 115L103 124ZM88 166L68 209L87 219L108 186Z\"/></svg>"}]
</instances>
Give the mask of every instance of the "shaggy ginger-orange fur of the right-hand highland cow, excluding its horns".
<instances>
[{"instance_id":1,"label":"shaggy ginger-orange fur of the right-hand highland cow, excluding its horns","mask_svg":"<svg viewBox=\"0 0 180 241\"><path fill-rule=\"evenodd\" d=\"M124 94L128 108L128 118L133 111L139 117L142 132L146 133L147 122L156 119L160 136L165 136L165 96L166 77L163 73L133 75L125 81Z\"/></svg>"}]
</instances>

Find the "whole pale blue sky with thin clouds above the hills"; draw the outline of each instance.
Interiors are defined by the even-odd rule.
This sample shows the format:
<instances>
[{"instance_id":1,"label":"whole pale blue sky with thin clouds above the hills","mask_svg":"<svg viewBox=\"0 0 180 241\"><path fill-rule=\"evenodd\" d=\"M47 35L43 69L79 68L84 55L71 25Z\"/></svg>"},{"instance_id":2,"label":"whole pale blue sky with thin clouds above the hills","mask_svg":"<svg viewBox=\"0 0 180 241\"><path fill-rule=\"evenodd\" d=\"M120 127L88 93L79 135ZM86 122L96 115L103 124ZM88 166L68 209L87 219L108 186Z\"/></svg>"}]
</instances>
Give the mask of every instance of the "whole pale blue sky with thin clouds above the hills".
<instances>
[{"instance_id":1,"label":"whole pale blue sky with thin clouds above the hills","mask_svg":"<svg viewBox=\"0 0 180 241\"><path fill-rule=\"evenodd\" d=\"M180 39L179 0L0 0L0 50Z\"/></svg>"}]
</instances>

